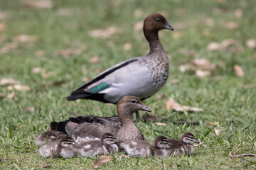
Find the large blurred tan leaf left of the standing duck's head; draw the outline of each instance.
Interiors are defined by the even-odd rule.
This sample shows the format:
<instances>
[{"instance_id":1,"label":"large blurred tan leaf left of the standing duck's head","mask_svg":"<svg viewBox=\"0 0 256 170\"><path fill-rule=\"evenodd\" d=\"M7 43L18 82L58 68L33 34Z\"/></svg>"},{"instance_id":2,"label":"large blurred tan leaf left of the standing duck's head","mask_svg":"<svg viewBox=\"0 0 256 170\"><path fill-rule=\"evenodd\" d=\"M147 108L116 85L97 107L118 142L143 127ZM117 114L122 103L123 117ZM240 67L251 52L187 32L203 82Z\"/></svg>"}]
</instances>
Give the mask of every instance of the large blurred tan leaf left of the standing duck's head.
<instances>
[{"instance_id":1,"label":"large blurred tan leaf left of the standing duck's head","mask_svg":"<svg viewBox=\"0 0 256 170\"><path fill-rule=\"evenodd\" d=\"M120 33L121 30L115 26L111 26L102 30L90 30L89 35L92 38L109 38L111 35Z\"/></svg>"}]
</instances>

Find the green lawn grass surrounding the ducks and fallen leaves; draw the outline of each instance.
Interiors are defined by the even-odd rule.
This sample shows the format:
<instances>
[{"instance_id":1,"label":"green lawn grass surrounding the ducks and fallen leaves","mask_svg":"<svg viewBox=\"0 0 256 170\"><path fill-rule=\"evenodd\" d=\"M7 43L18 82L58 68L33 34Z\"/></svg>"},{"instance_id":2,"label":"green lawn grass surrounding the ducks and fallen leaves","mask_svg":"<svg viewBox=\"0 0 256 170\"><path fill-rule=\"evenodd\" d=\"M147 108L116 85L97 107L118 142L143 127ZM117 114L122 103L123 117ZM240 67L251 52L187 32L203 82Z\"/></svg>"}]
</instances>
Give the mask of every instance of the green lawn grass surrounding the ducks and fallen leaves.
<instances>
[{"instance_id":1,"label":"green lawn grass surrounding the ducks and fallen leaves","mask_svg":"<svg viewBox=\"0 0 256 170\"><path fill-rule=\"evenodd\" d=\"M12 91L8 85L0 86L4 97L0 98L0 168L1 169L92 169L97 157L73 159L43 159L36 152L34 139L47 130L50 121L65 120L78 115L116 114L115 106L97 101L65 101L71 91L82 84L82 79L92 79L100 70L145 55L149 48L142 31L136 32L135 23L143 21L149 13L161 12L175 31L161 31L161 42L171 55L170 74L161 91L144 101L153 113L159 115L166 127L151 122L139 122L146 139L153 141L157 135L181 137L185 131L193 132L206 145L196 148L192 156L167 159L127 159L116 153L114 161L102 169L256 169L255 157L230 159L228 153L255 153L256 127L256 55L246 41L256 38L255 1L53 1L52 8L35 8L28 1L1 1L0 10L8 14L0 17L6 25L0 31L0 48L15 42L17 35L36 35L36 42L17 42L18 47L0 55L0 78L11 78L18 84L31 88ZM141 16L134 16L137 9ZM60 16L66 9L68 16ZM242 17L235 10L242 10ZM138 13L138 11L137 11ZM206 19L212 19L212 24ZM238 28L228 29L228 21L238 23ZM120 30L110 38L92 38L90 30L116 26ZM182 28L183 26L183 28ZM178 37L179 35L183 35ZM242 50L208 51L210 42L232 38ZM132 43L132 49L124 51L122 45ZM80 49L79 54L63 56L60 50ZM195 55L181 52L182 48L194 50ZM238 50L238 47L233 48ZM42 55L36 55L43 50ZM92 57L100 62L90 63ZM195 58L206 58L218 68L212 76L199 78L193 72L180 72L178 67ZM233 65L238 64L245 77L237 77ZM34 67L44 71L33 73ZM172 80L178 79L178 84ZM63 84L56 83L64 81ZM163 100L157 99L164 94ZM168 98L175 98L186 106L203 108L204 112L178 113L167 111ZM35 108L35 112L27 107ZM174 125L179 120L198 121L199 125ZM232 123L232 121L235 123ZM219 122L219 125L207 123ZM223 128L219 136L213 128Z\"/></svg>"}]
</instances>

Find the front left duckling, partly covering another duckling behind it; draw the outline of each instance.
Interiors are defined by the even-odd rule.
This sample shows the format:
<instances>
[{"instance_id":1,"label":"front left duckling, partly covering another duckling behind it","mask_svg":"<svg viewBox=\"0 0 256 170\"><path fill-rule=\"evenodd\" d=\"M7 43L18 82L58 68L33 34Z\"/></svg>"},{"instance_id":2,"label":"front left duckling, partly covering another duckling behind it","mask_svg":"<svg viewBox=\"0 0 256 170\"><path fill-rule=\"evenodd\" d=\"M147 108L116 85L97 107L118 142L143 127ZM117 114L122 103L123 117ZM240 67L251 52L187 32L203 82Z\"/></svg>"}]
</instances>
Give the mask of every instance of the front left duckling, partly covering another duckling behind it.
<instances>
[{"instance_id":1,"label":"front left duckling, partly covering another duckling behind it","mask_svg":"<svg viewBox=\"0 0 256 170\"><path fill-rule=\"evenodd\" d=\"M75 146L75 141L68 135L59 135L57 140L54 142L49 142L45 145L42 145L38 149L38 153L42 157L50 156L60 156L64 158L70 158L74 156L73 146Z\"/></svg>"}]
</instances>

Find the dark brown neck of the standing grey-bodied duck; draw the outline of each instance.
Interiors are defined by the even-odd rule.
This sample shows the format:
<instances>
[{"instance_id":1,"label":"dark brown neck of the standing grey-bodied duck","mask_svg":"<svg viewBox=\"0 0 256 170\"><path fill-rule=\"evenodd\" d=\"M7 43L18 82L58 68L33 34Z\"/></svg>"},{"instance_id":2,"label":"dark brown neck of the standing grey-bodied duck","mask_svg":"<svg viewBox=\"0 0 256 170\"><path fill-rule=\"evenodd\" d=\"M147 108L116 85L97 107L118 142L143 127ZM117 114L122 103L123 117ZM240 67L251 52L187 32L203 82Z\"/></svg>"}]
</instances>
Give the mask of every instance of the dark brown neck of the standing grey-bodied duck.
<instances>
[{"instance_id":1,"label":"dark brown neck of the standing grey-bodied duck","mask_svg":"<svg viewBox=\"0 0 256 170\"><path fill-rule=\"evenodd\" d=\"M159 40L158 30L144 30L144 35L146 40L149 42L150 51L149 54L154 52L164 51Z\"/></svg>"}]
</instances>

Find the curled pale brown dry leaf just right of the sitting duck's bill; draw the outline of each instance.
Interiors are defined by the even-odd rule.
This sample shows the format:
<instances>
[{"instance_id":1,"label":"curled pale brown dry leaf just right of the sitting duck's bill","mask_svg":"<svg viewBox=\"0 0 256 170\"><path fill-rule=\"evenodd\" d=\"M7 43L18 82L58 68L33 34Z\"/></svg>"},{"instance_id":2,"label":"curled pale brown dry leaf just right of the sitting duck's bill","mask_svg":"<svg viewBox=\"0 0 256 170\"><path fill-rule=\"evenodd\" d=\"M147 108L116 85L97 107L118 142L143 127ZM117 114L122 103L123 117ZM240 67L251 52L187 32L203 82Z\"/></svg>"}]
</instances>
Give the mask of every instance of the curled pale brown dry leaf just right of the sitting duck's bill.
<instances>
[{"instance_id":1,"label":"curled pale brown dry leaf just right of the sitting duck's bill","mask_svg":"<svg viewBox=\"0 0 256 170\"><path fill-rule=\"evenodd\" d=\"M174 98L169 98L169 100L166 102L166 109L169 111L170 109L178 112L183 111L204 111L202 108L192 108L191 106L181 106L178 102L174 100Z\"/></svg>"}]
</instances>

